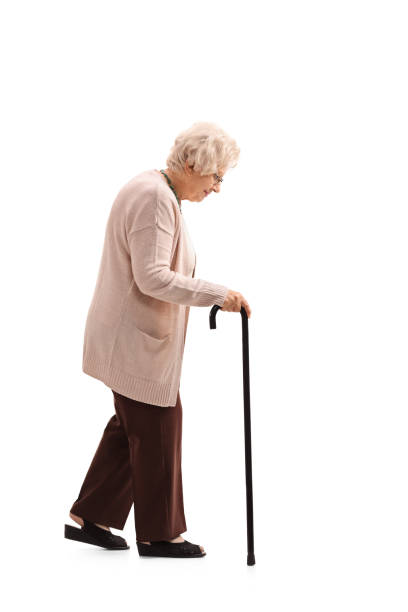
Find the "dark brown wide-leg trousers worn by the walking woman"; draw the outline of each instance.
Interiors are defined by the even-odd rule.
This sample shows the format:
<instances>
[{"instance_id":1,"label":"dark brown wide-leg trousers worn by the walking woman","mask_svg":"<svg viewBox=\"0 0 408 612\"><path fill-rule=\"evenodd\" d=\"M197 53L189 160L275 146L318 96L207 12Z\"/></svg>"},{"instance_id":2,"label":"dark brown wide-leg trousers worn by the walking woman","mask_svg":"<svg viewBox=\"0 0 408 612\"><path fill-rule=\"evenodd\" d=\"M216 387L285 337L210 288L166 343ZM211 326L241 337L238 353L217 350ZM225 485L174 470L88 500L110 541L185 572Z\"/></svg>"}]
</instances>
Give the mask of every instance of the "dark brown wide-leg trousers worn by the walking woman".
<instances>
[{"instance_id":1,"label":"dark brown wide-leg trousers worn by the walking woman","mask_svg":"<svg viewBox=\"0 0 408 612\"><path fill-rule=\"evenodd\" d=\"M172 540L187 530L180 392L175 406L112 393L116 414L105 427L71 512L123 529L134 504L137 540Z\"/></svg>"}]
</instances>

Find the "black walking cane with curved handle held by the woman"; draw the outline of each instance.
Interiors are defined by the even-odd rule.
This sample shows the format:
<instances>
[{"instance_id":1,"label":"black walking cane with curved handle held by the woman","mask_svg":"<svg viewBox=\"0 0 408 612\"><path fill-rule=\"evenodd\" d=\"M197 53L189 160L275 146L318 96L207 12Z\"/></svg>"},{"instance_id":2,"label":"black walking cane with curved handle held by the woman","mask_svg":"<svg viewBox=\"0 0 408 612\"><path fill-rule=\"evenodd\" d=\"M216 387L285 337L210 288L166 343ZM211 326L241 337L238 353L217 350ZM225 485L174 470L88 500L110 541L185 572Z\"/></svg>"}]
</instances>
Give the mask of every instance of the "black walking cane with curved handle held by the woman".
<instances>
[{"instance_id":1,"label":"black walking cane with curved handle held by the woman","mask_svg":"<svg viewBox=\"0 0 408 612\"><path fill-rule=\"evenodd\" d=\"M214 304L210 311L210 329L215 329L215 315L221 308ZM251 459L251 410L249 402L249 346L248 346L248 315L241 306L242 321L242 363L244 375L244 429L245 429L245 478L247 506L247 565L255 565L254 554L254 511L252 504L252 459Z\"/></svg>"}]
</instances>

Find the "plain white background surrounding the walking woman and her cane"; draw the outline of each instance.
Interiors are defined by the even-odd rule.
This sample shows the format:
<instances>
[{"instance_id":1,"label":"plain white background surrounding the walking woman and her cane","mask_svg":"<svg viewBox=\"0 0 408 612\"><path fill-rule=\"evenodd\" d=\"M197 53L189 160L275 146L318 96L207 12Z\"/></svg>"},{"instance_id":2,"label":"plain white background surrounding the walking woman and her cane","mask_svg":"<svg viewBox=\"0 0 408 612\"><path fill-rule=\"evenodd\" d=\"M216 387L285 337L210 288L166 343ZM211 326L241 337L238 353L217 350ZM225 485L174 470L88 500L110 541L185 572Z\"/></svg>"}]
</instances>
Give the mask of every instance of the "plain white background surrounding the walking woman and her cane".
<instances>
[{"instance_id":1,"label":"plain white background surrounding the walking woman and her cane","mask_svg":"<svg viewBox=\"0 0 408 612\"><path fill-rule=\"evenodd\" d=\"M5 609L407 610L405 10L2 3ZM81 370L108 214L199 120L241 148L183 211L196 277L252 308L253 567L240 315L210 330L209 308L181 382L183 537L207 556L140 558L133 509L127 552L63 538L113 414Z\"/></svg>"}]
</instances>

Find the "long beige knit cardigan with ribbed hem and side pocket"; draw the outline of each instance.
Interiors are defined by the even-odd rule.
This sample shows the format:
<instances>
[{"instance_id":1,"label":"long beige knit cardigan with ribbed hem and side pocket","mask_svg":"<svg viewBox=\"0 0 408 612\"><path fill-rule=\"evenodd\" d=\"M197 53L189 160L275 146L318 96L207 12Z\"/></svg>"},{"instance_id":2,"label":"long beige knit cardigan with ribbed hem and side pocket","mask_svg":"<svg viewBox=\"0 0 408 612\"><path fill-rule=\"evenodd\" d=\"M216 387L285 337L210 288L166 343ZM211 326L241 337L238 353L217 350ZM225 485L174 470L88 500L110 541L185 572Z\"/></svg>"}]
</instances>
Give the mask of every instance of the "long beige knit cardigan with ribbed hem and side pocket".
<instances>
[{"instance_id":1,"label":"long beige knit cardigan with ribbed hem and side pocket","mask_svg":"<svg viewBox=\"0 0 408 612\"><path fill-rule=\"evenodd\" d=\"M173 191L158 170L119 191L108 218L85 326L86 374L121 395L174 406L190 306L228 292L193 278L196 256Z\"/></svg>"}]
</instances>

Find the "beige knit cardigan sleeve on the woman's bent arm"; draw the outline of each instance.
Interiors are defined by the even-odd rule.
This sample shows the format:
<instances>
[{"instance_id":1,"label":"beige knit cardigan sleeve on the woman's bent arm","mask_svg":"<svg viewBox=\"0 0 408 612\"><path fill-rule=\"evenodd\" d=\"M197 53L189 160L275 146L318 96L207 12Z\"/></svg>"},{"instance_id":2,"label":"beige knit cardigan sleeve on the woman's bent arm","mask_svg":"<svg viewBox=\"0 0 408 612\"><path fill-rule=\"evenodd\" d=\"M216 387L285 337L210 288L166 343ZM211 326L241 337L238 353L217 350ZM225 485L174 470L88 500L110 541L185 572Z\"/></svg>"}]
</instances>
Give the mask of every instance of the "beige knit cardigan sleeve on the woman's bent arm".
<instances>
[{"instance_id":1,"label":"beige knit cardigan sleeve on the woman's bent arm","mask_svg":"<svg viewBox=\"0 0 408 612\"><path fill-rule=\"evenodd\" d=\"M137 286L142 293L164 302L185 306L222 306L228 287L170 269L175 227L172 206L158 197L154 221L130 232L129 250Z\"/></svg>"}]
</instances>

